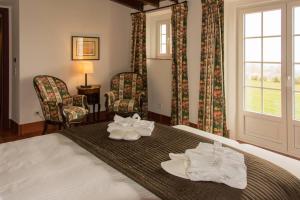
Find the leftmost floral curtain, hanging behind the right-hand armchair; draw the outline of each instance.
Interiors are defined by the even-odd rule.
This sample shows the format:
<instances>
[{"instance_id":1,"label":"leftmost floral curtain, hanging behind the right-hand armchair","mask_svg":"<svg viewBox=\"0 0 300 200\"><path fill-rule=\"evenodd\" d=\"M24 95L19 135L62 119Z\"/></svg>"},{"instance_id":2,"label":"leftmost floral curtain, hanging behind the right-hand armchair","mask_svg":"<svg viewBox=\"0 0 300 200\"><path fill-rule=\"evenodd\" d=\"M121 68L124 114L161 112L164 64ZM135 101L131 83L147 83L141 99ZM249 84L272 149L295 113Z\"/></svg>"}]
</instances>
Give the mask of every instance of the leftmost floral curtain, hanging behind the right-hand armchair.
<instances>
[{"instance_id":1,"label":"leftmost floral curtain, hanging behind the right-hand armchair","mask_svg":"<svg viewBox=\"0 0 300 200\"><path fill-rule=\"evenodd\" d=\"M147 64L146 64L146 14L132 14L132 48L131 48L132 71L143 77L146 99L143 104L144 117L148 112L148 89L147 89Z\"/></svg>"}]
</instances>

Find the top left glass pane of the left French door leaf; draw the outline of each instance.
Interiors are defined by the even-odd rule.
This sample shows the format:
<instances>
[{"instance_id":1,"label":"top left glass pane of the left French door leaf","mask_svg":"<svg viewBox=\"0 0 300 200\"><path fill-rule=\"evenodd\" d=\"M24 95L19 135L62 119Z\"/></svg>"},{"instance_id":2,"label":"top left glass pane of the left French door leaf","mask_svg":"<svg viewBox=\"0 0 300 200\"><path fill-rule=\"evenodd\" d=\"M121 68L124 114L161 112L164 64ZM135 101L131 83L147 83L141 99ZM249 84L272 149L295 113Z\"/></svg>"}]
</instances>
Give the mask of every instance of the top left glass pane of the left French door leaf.
<instances>
[{"instance_id":1,"label":"top left glass pane of the left French door leaf","mask_svg":"<svg viewBox=\"0 0 300 200\"><path fill-rule=\"evenodd\" d=\"M261 36L261 13L245 15L245 37Z\"/></svg>"}]
</instances>

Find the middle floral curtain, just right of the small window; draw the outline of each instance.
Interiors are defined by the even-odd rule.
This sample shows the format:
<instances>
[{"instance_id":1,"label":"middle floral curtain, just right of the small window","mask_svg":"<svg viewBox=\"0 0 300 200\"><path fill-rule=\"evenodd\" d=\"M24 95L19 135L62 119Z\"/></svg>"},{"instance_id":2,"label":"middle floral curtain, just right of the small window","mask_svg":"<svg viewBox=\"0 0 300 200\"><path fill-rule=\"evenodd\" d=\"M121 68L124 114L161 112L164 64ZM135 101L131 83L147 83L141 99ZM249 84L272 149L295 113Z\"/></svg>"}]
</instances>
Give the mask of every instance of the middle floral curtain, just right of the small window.
<instances>
[{"instance_id":1,"label":"middle floral curtain, just right of the small window","mask_svg":"<svg viewBox=\"0 0 300 200\"><path fill-rule=\"evenodd\" d=\"M173 125L189 125L187 69L187 2L172 6L172 111Z\"/></svg>"}]
</instances>

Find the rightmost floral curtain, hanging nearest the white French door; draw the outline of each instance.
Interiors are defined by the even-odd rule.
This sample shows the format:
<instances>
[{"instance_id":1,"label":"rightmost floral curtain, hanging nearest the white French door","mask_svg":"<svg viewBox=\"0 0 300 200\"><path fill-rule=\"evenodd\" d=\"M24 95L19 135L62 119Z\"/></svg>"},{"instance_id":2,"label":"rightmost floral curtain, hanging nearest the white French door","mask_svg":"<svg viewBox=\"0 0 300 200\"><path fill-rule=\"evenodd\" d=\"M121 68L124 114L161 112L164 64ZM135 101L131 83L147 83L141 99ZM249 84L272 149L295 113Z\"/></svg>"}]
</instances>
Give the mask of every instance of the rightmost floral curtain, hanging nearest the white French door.
<instances>
[{"instance_id":1,"label":"rightmost floral curtain, hanging nearest the white French door","mask_svg":"<svg viewBox=\"0 0 300 200\"><path fill-rule=\"evenodd\" d=\"M202 0L199 128L228 136L224 88L224 2Z\"/></svg>"}]
</instances>

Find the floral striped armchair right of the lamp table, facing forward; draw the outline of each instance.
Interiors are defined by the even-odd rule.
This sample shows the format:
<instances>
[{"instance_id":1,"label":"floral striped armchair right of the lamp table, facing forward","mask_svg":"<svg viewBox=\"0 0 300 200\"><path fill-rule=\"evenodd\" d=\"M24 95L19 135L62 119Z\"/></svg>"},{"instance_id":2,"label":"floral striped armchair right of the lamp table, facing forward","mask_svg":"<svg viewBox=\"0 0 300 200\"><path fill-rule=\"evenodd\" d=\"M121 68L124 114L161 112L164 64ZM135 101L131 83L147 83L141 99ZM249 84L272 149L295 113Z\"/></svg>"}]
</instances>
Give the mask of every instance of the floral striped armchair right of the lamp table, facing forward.
<instances>
[{"instance_id":1,"label":"floral striped armchair right of the lamp table, facing forward","mask_svg":"<svg viewBox=\"0 0 300 200\"><path fill-rule=\"evenodd\" d=\"M111 91L105 93L107 113L130 116L134 113L143 116L145 97L142 76L132 72L115 75L111 80Z\"/></svg>"}]
</instances>

